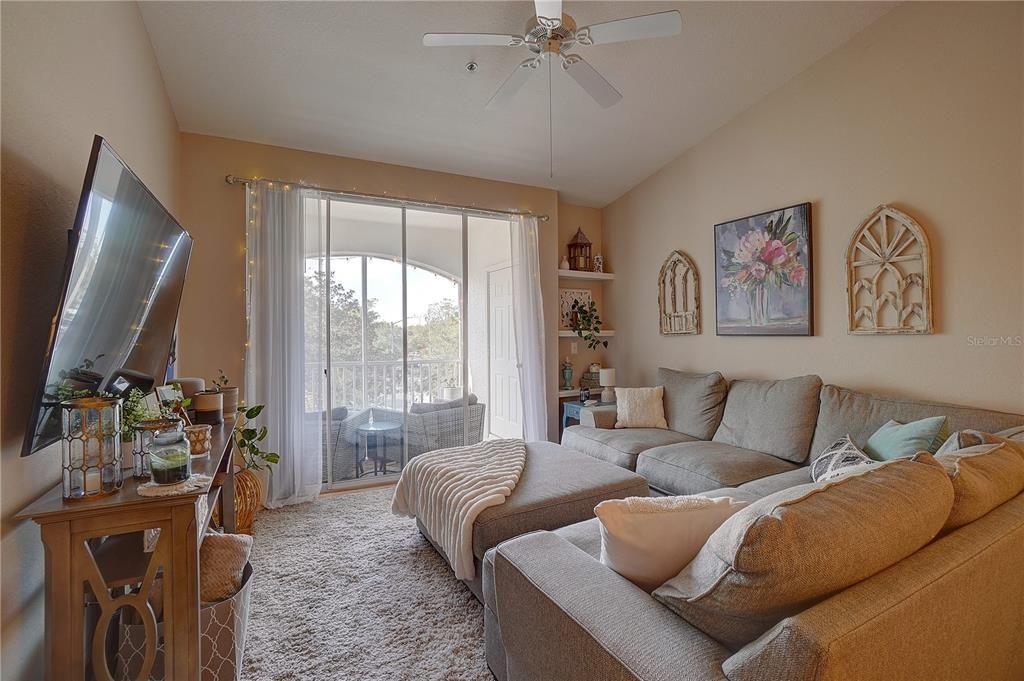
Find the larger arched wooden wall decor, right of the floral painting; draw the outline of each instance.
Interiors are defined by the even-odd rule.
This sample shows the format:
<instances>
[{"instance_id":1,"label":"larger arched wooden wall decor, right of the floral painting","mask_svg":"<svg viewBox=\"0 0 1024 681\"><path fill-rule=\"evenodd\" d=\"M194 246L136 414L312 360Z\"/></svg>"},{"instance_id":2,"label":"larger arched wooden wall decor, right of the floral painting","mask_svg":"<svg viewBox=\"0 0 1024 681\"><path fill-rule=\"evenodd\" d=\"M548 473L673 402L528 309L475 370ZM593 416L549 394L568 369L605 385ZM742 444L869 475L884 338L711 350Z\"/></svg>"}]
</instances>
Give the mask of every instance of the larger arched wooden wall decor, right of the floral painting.
<instances>
[{"instance_id":1,"label":"larger arched wooden wall decor, right of the floral painting","mask_svg":"<svg viewBox=\"0 0 1024 681\"><path fill-rule=\"evenodd\" d=\"M906 213L879 206L846 254L851 334L932 333L928 236Z\"/></svg>"}]
</instances>

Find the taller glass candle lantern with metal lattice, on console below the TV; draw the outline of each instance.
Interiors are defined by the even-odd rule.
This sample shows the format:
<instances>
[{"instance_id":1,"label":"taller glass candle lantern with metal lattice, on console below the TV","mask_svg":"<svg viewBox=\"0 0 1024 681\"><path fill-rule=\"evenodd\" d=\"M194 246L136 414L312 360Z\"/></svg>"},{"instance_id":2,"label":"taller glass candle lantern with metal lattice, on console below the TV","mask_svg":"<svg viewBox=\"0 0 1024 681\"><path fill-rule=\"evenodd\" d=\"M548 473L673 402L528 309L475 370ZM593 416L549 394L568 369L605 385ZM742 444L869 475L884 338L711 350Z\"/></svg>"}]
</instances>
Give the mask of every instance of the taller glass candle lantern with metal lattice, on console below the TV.
<instances>
[{"instance_id":1,"label":"taller glass candle lantern with metal lattice, on console below the TV","mask_svg":"<svg viewBox=\"0 0 1024 681\"><path fill-rule=\"evenodd\" d=\"M121 400L79 397L60 402L61 488L89 499L121 488Z\"/></svg>"}]
</instances>

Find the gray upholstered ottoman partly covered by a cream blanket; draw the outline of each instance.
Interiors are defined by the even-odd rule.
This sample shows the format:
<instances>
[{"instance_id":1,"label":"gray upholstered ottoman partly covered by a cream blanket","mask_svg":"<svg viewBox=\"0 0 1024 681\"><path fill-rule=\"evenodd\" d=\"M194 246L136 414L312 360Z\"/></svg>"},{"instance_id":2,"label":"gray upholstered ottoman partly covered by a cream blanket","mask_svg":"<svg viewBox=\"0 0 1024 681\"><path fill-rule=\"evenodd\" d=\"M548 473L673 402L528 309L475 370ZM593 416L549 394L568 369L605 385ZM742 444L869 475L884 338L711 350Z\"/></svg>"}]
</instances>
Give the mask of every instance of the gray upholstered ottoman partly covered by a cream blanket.
<instances>
[{"instance_id":1,"label":"gray upholstered ottoman partly covered by a cream blanket","mask_svg":"<svg viewBox=\"0 0 1024 681\"><path fill-rule=\"evenodd\" d=\"M526 467L504 504L484 510L473 523L472 580L466 584L483 601L482 561L487 549L537 529L557 529L594 517L606 499L646 497L647 481L614 464L553 442L527 442ZM417 521L438 553L444 552Z\"/></svg>"}]
</instances>

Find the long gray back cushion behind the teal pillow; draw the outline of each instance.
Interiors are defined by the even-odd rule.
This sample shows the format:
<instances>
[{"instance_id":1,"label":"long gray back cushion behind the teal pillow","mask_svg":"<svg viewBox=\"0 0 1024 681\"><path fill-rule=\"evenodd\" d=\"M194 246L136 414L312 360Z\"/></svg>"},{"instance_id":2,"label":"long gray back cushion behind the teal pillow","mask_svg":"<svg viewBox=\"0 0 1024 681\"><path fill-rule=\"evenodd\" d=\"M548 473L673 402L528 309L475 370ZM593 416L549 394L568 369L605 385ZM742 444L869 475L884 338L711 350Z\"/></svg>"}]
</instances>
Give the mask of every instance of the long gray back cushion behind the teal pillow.
<instances>
[{"instance_id":1,"label":"long gray back cushion behind the teal pillow","mask_svg":"<svg viewBox=\"0 0 1024 681\"><path fill-rule=\"evenodd\" d=\"M811 440L812 460L846 434L850 435L854 444L863 448L867 438L890 419L909 423L930 416L944 416L949 432L972 429L994 433L1004 428L1024 424L1024 416L1020 414L922 399L897 399L857 392L837 385L822 386L820 402L817 427L814 430L814 439Z\"/></svg>"}]
</instances>

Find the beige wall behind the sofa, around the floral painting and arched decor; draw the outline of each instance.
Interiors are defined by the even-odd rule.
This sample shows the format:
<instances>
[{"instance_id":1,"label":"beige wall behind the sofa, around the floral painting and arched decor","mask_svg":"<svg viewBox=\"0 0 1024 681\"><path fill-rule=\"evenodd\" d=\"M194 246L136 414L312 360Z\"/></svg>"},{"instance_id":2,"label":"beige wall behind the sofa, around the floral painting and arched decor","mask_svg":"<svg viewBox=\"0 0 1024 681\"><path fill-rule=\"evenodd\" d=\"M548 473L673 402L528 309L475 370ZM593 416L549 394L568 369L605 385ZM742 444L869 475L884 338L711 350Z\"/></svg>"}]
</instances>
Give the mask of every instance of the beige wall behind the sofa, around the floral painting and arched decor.
<instances>
[{"instance_id":1,"label":"beige wall behind the sofa, around the floral painting and arched decor","mask_svg":"<svg viewBox=\"0 0 1024 681\"><path fill-rule=\"evenodd\" d=\"M658 366L816 373L1024 411L1024 347L970 342L1024 334L1021 13L1020 3L901 5L606 207L620 381L650 382ZM713 225L804 201L816 335L716 337ZM932 336L847 334L845 250L882 203L930 235ZM672 249L700 270L700 336L658 335L655 279Z\"/></svg>"}]
</instances>

